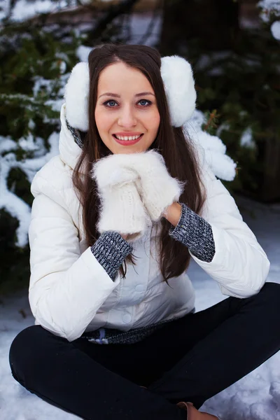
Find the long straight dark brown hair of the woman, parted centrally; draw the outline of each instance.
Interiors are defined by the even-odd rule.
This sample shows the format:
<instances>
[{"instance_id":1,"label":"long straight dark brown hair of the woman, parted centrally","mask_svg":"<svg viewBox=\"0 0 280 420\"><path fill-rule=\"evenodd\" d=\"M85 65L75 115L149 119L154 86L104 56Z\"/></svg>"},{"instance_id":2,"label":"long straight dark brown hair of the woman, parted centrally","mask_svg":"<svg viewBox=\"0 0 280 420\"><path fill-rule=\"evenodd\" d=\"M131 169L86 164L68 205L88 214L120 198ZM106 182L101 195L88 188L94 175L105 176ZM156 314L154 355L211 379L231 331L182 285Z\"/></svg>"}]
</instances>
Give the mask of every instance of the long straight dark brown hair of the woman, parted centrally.
<instances>
[{"instance_id":1,"label":"long straight dark brown hair of the woman, parted centrally","mask_svg":"<svg viewBox=\"0 0 280 420\"><path fill-rule=\"evenodd\" d=\"M97 103L99 74L106 66L120 61L141 71L153 87L160 113L160 127L158 136L150 149L155 148L162 154L171 176L179 181L187 181L180 202L187 204L190 209L199 214L205 200L195 148L190 139L185 138L182 127L175 128L170 123L167 97L160 74L160 53L146 45L101 45L94 48L88 57L90 68L89 130L83 139L83 151L73 171L73 185L80 205L83 206L83 224L88 246L92 246L99 237L96 223L101 203L95 181L90 178L90 175L83 178L79 169L85 165L86 173L90 174L95 160L112 154L99 136L94 120L94 110ZM160 270L165 281L168 281L188 268L190 254L186 246L169 236L171 224L163 217L160 223L162 225L159 248ZM135 264L132 255L128 255L125 259L125 269L123 266L120 267L123 276L126 274L126 262Z\"/></svg>"}]
</instances>

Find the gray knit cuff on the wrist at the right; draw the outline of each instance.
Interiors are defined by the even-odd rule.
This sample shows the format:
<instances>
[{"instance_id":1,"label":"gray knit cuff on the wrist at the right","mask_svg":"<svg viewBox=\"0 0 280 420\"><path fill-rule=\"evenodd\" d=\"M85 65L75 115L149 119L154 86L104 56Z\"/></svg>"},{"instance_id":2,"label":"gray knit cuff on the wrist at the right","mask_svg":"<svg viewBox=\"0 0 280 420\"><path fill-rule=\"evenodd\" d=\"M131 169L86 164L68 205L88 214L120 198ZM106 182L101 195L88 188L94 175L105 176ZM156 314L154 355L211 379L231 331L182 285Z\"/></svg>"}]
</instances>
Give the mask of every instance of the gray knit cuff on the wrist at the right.
<instances>
[{"instance_id":1,"label":"gray knit cuff on the wrist at the right","mask_svg":"<svg viewBox=\"0 0 280 420\"><path fill-rule=\"evenodd\" d=\"M215 242L211 225L198 216L186 204L181 204L181 217L169 229L169 235L188 246L189 250L202 261L211 262L215 255Z\"/></svg>"}]
</instances>

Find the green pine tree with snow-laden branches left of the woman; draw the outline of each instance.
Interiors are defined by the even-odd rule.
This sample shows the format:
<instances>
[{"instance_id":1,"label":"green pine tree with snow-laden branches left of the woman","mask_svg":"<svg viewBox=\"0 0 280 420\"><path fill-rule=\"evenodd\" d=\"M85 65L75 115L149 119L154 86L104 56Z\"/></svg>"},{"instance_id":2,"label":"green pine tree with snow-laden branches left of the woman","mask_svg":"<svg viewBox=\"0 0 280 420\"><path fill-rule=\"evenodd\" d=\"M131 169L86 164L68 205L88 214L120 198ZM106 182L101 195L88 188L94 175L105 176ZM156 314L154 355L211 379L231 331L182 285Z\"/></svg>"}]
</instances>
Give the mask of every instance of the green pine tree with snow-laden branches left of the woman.
<instances>
[{"instance_id":1,"label":"green pine tree with snow-laden branches left of the woman","mask_svg":"<svg viewBox=\"0 0 280 420\"><path fill-rule=\"evenodd\" d=\"M23 30L21 30L23 28ZM27 286L30 183L58 153L59 109L81 39L35 27L0 34L0 291Z\"/></svg>"}]
</instances>

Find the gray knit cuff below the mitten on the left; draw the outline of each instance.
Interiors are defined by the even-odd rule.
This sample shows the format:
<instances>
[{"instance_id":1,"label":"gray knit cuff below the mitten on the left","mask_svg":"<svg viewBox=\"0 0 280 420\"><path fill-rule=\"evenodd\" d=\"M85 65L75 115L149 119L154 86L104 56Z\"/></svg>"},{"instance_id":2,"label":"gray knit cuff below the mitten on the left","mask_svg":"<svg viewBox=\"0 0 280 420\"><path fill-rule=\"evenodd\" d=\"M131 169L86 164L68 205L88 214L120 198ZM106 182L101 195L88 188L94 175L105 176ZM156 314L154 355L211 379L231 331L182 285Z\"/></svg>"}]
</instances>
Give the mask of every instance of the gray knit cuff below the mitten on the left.
<instances>
[{"instance_id":1,"label":"gray knit cuff below the mitten on the left","mask_svg":"<svg viewBox=\"0 0 280 420\"><path fill-rule=\"evenodd\" d=\"M114 281L120 265L127 255L132 253L132 246L118 232L103 232L91 247L97 261Z\"/></svg>"}]
</instances>

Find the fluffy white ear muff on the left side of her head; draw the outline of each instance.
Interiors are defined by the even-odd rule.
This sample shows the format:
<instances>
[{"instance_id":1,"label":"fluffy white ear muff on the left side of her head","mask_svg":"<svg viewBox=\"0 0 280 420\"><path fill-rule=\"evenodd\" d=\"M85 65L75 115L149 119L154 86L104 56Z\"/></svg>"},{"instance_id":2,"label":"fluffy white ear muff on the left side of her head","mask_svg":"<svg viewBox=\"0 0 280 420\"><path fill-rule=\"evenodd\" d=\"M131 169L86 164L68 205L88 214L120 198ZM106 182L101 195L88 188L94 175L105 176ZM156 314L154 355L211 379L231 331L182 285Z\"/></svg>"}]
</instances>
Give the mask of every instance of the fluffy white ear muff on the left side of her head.
<instances>
[{"instance_id":1,"label":"fluffy white ear muff on the left side of her head","mask_svg":"<svg viewBox=\"0 0 280 420\"><path fill-rule=\"evenodd\" d=\"M69 124L86 132L88 130L88 96L90 74L88 64L80 62L73 67L65 87L66 118Z\"/></svg>"}]
</instances>

